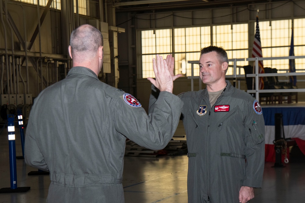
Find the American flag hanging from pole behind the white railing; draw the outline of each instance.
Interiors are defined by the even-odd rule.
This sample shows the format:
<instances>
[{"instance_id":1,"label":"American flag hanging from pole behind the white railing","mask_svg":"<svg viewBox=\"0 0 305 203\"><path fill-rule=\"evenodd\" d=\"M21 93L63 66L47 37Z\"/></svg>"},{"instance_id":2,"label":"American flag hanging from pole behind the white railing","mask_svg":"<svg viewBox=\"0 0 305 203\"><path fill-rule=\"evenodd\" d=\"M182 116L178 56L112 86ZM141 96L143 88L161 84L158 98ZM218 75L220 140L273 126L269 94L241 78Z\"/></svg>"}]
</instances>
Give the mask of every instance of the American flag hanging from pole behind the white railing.
<instances>
[{"instance_id":1,"label":"American flag hanging from pole behind the white railing","mask_svg":"<svg viewBox=\"0 0 305 203\"><path fill-rule=\"evenodd\" d=\"M253 43L252 58L263 57L262 46L260 44L260 28L258 26L258 16L256 16L256 31ZM253 67L254 68L254 67ZM258 61L258 72L265 73L263 61ZM264 89L264 78L259 78L259 89Z\"/></svg>"}]
</instances>

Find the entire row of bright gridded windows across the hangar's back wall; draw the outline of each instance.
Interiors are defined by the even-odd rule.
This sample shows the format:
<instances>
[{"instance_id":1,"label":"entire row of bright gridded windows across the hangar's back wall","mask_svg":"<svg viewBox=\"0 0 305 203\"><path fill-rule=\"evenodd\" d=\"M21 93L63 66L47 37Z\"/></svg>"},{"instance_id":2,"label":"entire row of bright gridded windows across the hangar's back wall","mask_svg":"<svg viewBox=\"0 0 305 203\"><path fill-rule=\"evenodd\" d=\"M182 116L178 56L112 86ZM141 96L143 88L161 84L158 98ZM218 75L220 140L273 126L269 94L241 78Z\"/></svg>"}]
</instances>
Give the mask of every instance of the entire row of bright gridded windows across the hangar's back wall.
<instances>
[{"instance_id":1,"label":"entire row of bright gridded windows across the hangar's back wall","mask_svg":"<svg viewBox=\"0 0 305 203\"><path fill-rule=\"evenodd\" d=\"M260 21L260 40L263 57L289 56L292 24L294 30L294 53L296 56L305 55L305 19L289 19ZM254 23L256 26L256 23ZM255 29L254 29L255 30ZM200 48L209 45L224 47L228 58L249 58L248 24L217 25L191 28L175 28L173 37L171 30L167 30L167 37L160 40L160 34L165 30L146 30L142 32L142 63L143 78L153 77L152 58L156 53L173 53L175 57L175 73L183 76L191 75L191 65L187 61L198 61ZM157 40L159 39L159 40ZM173 44L171 44L173 42ZM159 44L161 43L161 44ZM166 47L159 49L157 47ZM250 50L252 51L252 50ZM148 56L148 54L151 54ZM305 67L305 59L296 59L296 70L301 72ZM249 61L238 61L237 66L248 65ZM252 64L250 64L252 65ZM227 74L233 74L233 62L229 63ZM264 67L277 68L278 72L288 72L289 60L265 60ZM299 70L299 71L298 71ZM244 74L243 69L237 69L237 74ZM199 75L198 65L194 65L194 75Z\"/></svg>"}]
</instances>

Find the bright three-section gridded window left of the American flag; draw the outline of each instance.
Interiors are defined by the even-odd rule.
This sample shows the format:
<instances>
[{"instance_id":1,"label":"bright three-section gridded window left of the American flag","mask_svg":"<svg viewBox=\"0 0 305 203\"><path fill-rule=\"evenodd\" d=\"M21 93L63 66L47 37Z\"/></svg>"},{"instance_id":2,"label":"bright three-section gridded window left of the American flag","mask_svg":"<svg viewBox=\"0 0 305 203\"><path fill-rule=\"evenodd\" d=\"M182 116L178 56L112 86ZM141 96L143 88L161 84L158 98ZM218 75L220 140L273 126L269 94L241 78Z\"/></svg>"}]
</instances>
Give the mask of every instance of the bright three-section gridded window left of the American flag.
<instances>
[{"instance_id":1,"label":"bright three-section gridded window left of the American flag","mask_svg":"<svg viewBox=\"0 0 305 203\"><path fill-rule=\"evenodd\" d=\"M200 49L211 44L222 46L228 52L228 58L248 58L248 24L213 26L213 41L211 42L211 27L191 27L174 29L172 42L171 30L142 31L142 77L154 77L152 58L156 53L174 53L175 74L191 75L191 64L188 61L198 61ZM158 34L159 33L159 34ZM160 33L163 33L162 39ZM165 37L166 34L166 37ZM162 44L158 44L158 43ZM157 49L157 47L166 47ZM173 52L171 47L173 47ZM148 55L150 54L150 55ZM238 62L238 66L246 65L246 61ZM233 74L233 62L230 62L228 74ZM243 74L237 70L237 74ZM199 75L199 66L194 65L194 75Z\"/></svg>"}]
</instances>

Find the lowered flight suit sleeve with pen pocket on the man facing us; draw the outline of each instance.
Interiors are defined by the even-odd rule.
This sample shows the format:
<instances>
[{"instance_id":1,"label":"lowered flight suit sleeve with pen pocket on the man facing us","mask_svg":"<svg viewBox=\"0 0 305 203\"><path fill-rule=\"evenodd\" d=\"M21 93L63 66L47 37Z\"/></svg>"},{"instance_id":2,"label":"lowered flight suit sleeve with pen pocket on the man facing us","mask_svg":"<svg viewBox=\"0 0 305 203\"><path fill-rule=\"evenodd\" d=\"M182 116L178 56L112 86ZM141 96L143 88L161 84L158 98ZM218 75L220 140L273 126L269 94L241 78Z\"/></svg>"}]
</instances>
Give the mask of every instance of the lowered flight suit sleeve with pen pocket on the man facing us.
<instances>
[{"instance_id":1,"label":"lowered flight suit sleeve with pen pocket on the man facing us","mask_svg":"<svg viewBox=\"0 0 305 203\"><path fill-rule=\"evenodd\" d=\"M265 161L265 124L258 101L249 105L245 120L246 171L243 186L261 187Z\"/></svg>"}]
</instances>

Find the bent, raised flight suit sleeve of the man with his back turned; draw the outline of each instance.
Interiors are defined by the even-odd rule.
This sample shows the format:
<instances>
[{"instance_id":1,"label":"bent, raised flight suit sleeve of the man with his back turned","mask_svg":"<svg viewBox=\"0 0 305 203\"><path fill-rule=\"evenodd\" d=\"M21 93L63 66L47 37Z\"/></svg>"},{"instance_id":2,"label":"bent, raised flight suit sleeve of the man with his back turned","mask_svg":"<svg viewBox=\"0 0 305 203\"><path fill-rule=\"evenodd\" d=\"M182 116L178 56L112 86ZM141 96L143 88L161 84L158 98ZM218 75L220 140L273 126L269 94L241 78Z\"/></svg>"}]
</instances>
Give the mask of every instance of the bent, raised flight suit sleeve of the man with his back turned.
<instances>
[{"instance_id":1,"label":"bent, raised flight suit sleeve of the man with his back turned","mask_svg":"<svg viewBox=\"0 0 305 203\"><path fill-rule=\"evenodd\" d=\"M148 149L163 149L173 137L179 123L183 102L172 93L163 91L152 98L149 114L142 107L132 107L123 98L114 102L116 130Z\"/></svg>"}]
</instances>

